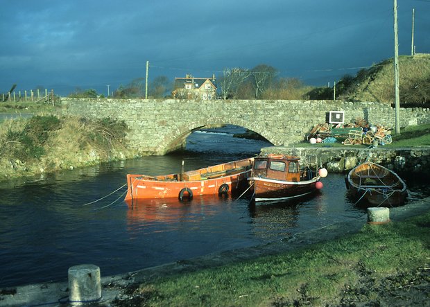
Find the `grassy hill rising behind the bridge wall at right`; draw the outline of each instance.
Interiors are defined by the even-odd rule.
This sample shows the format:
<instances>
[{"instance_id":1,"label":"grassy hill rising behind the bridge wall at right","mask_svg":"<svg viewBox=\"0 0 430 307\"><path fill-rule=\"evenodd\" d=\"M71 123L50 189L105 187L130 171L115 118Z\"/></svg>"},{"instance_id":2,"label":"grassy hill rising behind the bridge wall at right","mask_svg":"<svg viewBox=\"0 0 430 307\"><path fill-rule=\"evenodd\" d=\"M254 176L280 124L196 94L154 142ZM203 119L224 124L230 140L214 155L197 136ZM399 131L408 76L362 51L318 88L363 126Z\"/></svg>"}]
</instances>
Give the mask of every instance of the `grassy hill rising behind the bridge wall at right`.
<instances>
[{"instance_id":1,"label":"grassy hill rising behind the bridge wall at right","mask_svg":"<svg viewBox=\"0 0 430 307\"><path fill-rule=\"evenodd\" d=\"M430 54L399 56L399 98L402 105L430 103ZM332 99L333 88L317 88L311 99ZM394 103L393 58L345 75L336 83L336 99Z\"/></svg>"}]
</instances>

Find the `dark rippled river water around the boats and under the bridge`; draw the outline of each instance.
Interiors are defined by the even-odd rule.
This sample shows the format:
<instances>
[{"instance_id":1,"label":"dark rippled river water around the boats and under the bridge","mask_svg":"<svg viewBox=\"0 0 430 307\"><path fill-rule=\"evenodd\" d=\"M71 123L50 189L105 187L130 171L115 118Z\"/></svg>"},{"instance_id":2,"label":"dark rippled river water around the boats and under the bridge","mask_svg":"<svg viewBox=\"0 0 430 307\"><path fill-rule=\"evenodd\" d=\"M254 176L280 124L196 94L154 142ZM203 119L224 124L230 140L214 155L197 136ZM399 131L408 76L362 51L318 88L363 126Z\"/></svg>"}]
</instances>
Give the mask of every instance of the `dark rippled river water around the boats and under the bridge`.
<instances>
[{"instance_id":1,"label":"dark rippled river water around the boats and under the bridge","mask_svg":"<svg viewBox=\"0 0 430 307\"><path fill-rule=\"evenodd\" d=\"M346 197L343 175L298 203L250 204L245 197L123 202L127 173L158 175L251 157L265 141L232 137L239 128L193 132L171 155L68 170L0 185L0 288L67 280L73 265L103 276L288 238L365 211ZM118 188L120 188L117 192ZM114 192L114 193L112 193Z\"/></svg>"}]
</instances>

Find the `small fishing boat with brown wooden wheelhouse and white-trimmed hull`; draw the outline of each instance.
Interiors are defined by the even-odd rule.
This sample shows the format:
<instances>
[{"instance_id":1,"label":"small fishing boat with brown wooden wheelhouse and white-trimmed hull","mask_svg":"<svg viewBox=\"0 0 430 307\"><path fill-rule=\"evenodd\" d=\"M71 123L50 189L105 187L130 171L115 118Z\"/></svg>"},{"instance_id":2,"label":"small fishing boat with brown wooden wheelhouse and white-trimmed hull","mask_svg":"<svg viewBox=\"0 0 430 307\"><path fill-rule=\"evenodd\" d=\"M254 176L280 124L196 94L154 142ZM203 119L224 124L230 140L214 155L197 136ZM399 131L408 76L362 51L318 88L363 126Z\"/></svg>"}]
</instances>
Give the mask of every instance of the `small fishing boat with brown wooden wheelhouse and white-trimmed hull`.
<instances>
[{"instance_id":1,"label":"small fishing boat with brown wooden wheelhouse and white-trimmed hull","mask_svg":"<svg viewBox=\"0 0 430 307\"><path fill-rule=\"evenodd\" d=\"M320 177L325 177L327 170L301 170L299 160L300 157L285 155L255 157L248 178L255 201L300 198L322 188Z\"/></svg>"}]
</instances>

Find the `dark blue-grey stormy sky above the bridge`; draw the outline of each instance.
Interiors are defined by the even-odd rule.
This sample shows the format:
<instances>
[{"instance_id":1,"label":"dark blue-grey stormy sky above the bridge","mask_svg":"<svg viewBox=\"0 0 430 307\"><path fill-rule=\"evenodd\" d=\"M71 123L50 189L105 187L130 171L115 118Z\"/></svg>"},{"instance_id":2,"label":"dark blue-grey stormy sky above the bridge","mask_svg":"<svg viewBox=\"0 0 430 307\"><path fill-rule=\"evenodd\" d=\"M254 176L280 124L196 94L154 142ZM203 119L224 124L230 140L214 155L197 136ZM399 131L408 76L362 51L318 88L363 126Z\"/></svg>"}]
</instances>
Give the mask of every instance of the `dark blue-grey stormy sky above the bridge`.
<instances>
[{"instance_id":1,"label":"dark blue-grey stormy sky above the bridge","mask_svg":"<svg viewBox=\"0 0 430 307\"><path fill-rule=\"evenodd\" d=\"M107 95L146 75L274 67L327 86L394 56L393 0L1 0L0 93ZM397 0L399 55L430 53L430 0Z\"/></svg>"}]
</instances>

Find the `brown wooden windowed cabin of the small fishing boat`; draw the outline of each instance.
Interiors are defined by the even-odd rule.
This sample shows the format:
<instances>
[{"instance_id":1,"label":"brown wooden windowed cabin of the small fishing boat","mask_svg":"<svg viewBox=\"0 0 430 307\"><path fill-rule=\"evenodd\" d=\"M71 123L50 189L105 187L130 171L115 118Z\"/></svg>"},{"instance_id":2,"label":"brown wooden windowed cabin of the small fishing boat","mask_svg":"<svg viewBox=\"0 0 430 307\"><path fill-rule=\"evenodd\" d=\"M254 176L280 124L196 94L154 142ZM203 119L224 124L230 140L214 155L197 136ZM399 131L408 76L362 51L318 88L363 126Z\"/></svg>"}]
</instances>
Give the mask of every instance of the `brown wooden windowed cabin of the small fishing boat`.
<instances>
[{"instance_id":1,"label":"brown wooden windowed cabin of the small fishing boat","mask_svg":"<svg viewBox=\"0 0 430 307\"><path fill-rule=\"evenodd\" d=\"M256 157L252 168L252 176L300 182L299 160L299 157L284 155Z\"/></svg>"}]
</instances>

